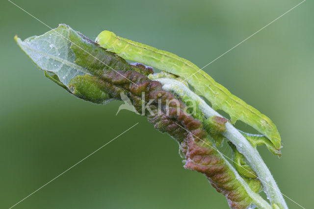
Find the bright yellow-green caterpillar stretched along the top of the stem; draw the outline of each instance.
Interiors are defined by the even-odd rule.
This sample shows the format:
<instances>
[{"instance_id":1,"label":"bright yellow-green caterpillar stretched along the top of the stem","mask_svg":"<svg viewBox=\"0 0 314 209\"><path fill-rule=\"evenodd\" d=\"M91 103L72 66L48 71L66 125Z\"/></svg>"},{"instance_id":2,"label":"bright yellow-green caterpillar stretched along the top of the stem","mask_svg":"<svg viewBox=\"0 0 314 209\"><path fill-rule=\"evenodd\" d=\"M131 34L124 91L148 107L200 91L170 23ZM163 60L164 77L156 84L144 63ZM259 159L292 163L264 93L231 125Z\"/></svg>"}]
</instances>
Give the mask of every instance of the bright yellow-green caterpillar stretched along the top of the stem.
<instances>
[{"instance_id":1,"label":"bright yellow-green caterpillar stretched along the top of the stem","mask_svg":"<svg viewBox=\"0 0 314 209\"><path fill-rule=\"evenodd\" d=\"M267 116L231 94L228 89L215 82L192 62L171 52L119 37L107 30L97 36L96 42L125 59L141 62L186 79L195 89L195 93L205 97L212 104L213 109L227 112L232 123L237 120L243 121L264 134L276 149L281 148L280 134Z\"/></svg>"}]
</instances>

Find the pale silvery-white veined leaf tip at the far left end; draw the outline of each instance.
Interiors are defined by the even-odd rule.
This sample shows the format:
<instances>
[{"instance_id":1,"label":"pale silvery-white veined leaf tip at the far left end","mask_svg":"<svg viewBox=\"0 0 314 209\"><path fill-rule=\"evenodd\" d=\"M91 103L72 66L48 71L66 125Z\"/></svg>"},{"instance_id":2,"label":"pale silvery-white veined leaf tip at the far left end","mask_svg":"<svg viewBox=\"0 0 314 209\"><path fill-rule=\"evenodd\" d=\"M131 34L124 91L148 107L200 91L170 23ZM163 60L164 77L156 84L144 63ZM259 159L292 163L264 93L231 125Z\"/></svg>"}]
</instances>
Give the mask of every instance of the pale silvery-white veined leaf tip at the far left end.
<instances>
[{"instance_id":1,"label":"pale silvery-white veined leaf tip at the far left end","mask_svg":"<svg viewBox=\"0 0 314 209\"><path fill-rule=\"evenodd\" d=\"M78 75L85 75L88 71L75 63L76 56L70 49L69 26L59 27L40 36L32 36L22 41L17 36L16 42L31 60L42 70L58 76L67 85Z\"/></svg>"}]
</instances>

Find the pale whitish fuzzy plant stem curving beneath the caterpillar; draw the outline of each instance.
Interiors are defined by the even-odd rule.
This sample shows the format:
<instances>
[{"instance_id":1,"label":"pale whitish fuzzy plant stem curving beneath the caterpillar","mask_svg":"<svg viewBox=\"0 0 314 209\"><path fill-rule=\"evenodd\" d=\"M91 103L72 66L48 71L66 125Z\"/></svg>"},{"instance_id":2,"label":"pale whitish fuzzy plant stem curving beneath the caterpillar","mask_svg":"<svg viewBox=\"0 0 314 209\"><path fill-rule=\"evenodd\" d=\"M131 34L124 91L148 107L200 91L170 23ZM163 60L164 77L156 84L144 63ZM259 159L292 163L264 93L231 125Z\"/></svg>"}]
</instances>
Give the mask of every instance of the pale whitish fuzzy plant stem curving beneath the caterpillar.
<instances>
[{"instance_id":1,"label":"pale whitish fuzzy plant stem curving beneath the caterpillar","mask_svg":"<svg viewBox=\"0 0 314 209\"><path fill-rule=\"evenodd\" d=\"M218 112L212 109L201 97L192 92L186 85L174 78L157 78L157 81L162 83L162 88L167 91L172 91L180 97L187 96L196 101L200 110L206 117L221 116ZM235 129L229 122L226 123L227 131L223 135L228 138L235 146L236 149L246 157L247 161L258 175L258 178L263 184L264 192L266 193L271 204L276 204L282 209L288 209L288 206L280 192L273 176L265 165L262 157L256 148Z\"/></svg>"}]
</instances>

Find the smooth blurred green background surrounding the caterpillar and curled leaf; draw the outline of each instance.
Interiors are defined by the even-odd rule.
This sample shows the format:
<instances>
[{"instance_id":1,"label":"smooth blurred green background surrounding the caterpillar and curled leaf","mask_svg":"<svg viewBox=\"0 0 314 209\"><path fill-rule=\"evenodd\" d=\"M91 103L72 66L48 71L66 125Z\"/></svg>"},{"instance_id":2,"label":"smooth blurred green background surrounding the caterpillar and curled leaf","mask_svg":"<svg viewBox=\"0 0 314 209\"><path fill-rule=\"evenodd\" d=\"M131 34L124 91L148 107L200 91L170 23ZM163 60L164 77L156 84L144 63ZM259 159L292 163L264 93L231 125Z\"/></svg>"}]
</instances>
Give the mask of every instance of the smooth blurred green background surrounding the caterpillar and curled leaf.
<instances>
[{"instance_id":1,"label":"smooth blurred green background surrounding the caterpillar and curled leaf","mask_svg":"<svg viewBox=\"0 0 314 209\"><path fill-rule=\"evenodd\" d=\"M51 27L95 39L104 29L174 52L199 67L298 0L14 0ZM313 207L314 2L307 0L204 70L269 116L283 157L260 148L281 191ZM112 143L28 197L19 209L224 209L206 178L183 169L178 145L121 102L79 100L44 77L13 40L46 26L0 2L0 208L9 208L135 123ZM241 123L237 127L252 131ZM224 147L223 151L231 155ZM299 208L287 200L289 208ZM311 207L312 206L312 207Z\"/></svg>"}]
</instances>

